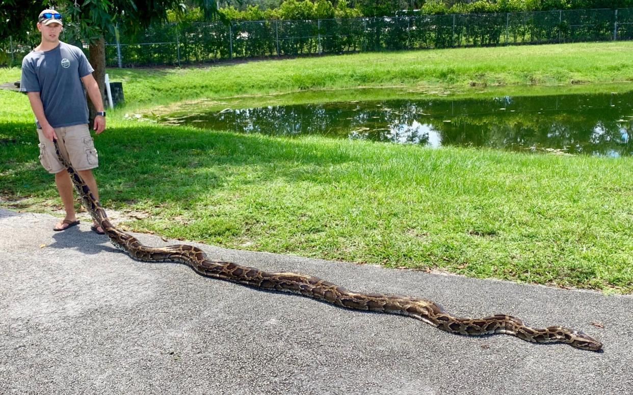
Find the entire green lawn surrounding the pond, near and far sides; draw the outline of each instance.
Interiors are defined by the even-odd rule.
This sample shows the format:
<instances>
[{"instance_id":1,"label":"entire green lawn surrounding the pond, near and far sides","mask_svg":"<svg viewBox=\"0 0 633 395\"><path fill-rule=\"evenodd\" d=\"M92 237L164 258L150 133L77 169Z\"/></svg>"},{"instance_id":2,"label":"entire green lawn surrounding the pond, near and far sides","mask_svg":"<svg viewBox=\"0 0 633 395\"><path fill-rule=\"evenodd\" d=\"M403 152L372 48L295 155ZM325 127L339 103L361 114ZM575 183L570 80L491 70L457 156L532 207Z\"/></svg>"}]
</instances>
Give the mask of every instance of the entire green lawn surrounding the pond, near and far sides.
<instances>
[{"instance_id":1,"label":"entire green lawn surrounding the pond, near and far sides","mask_svg":"<svg viewBox=\"0 0 633 395\"><path fill-rule=\"evenodd\" d=\"M616 42L109 70L128 104L96 138L103 204L142 213L127 226L170 238L631 293L632 158L235 135L123 114L235 95L265 103L298 90L311 92L283 100L334 100L352 93L313 90L358 85L473 95L483 83L504 85L503 94L536 84L546 94L579 80L610 92L601 84L633 80L632 50ZM0 69L0 82L18 78ZM46 211L60 202L37 162L32 119L25 96L0 91L0 139L15 140L0 143L0 193L4 207Z\"/></svg>"}]
</instances>

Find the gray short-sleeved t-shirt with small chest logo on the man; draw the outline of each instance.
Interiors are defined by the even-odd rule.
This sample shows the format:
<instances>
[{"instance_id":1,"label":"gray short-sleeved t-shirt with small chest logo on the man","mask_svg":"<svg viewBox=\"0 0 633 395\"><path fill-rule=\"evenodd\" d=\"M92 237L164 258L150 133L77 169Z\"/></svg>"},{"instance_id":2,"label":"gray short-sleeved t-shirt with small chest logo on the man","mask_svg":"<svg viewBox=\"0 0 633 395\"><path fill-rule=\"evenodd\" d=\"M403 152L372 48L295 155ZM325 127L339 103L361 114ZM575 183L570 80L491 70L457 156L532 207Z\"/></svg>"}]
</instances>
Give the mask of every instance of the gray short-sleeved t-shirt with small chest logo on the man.
<instances>
[{"instance_id":1,"label":"gray short-sleeved t-shirt with small chest logo on the man","mask_svg":"<svg viewBox=\"0 0 633 395\"><path fill-rule=\"evenodd\" d=\"M94 69L81 49L60 41L50 51L31 51L22 60L22 92L40 92L44 115L53 128L88 123L81 77ZM39 122L35 119L39 128Z\"/></svg>"}]
</instances>

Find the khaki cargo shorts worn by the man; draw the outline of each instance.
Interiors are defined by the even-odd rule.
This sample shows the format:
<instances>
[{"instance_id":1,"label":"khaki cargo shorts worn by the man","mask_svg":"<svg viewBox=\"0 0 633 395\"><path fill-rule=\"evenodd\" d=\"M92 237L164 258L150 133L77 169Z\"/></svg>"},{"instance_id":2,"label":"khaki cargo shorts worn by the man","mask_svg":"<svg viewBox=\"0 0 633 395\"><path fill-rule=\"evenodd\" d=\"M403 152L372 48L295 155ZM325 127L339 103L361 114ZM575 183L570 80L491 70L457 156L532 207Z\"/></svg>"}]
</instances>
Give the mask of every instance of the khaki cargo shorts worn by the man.
<instances>
[{"instance_id":1,"label":"khaki cargo shorts worn by the man","mask_svg":"<svg viewBox=\"0 0 633 395\"><path fill-rule=\"evenodd\" d=\"M70 159L70 164L75 167L75 170L88 170L99 166L97 150L94 149L94 142L90 136L87 123L54 129L57 135L57 143L60 145L61 155L66 159ZM51 174L65 170L66 167L61 164L55 154L53 142L44 137L41 129L37 130L37 136L40 140L39 159L42 167Z\"/></svg>"}]
</instances>

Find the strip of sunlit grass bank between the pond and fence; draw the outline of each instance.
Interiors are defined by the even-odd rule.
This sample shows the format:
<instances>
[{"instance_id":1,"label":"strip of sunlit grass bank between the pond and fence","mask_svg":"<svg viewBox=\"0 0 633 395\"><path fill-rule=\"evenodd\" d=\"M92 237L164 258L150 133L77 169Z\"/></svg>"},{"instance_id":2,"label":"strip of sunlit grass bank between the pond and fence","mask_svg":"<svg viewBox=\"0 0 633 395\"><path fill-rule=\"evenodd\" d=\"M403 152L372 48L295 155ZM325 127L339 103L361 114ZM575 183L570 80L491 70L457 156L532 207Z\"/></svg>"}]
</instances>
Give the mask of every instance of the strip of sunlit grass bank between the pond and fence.
<instances>
[{"instance_id":1,"label":"strip of sunlit grass bank between the pond and fence","mask_svg":"<svg viewBox=\"0 0 633 395\"><path fill-rule=\"evenodd\" d=\"M357 87L401 87L420 95L447 92L551 94L553 90L548 87L553 85L559 94L561 88L573 92L605 92L630 89L627 82L633 82L631 64L633 42L623 41L368 52L182 69L110 69L108 72L112 80L123 82L127 111L131 111L180 100L225 99L237 95L261 97L287 92L304 92L299 97L290 95L289 102L306 98L332 100L338 94L329 90ZM0 68L0 81L19 78L18 69ZM617 85L596 87L596 84L610 83ZM501 89L494 90L494 87ZM342 99L346 99L344 92L342 95ZM367 95L375 97L376 92Z\"/></svg>"}]
</instances>

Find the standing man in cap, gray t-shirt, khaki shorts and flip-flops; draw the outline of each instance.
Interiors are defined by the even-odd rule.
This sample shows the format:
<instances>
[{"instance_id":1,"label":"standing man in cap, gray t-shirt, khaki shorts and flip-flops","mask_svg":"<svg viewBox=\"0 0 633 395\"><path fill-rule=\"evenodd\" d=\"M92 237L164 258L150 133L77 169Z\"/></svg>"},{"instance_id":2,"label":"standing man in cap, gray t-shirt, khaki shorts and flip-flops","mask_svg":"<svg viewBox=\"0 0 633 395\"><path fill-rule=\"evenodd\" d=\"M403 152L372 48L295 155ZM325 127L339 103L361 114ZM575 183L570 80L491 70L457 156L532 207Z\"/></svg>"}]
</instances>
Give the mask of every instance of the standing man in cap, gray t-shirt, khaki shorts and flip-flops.
<instances>
[{"instance_id":1,"label":"standing man in cap, gray t-shirt, khaki shorts and flip-flops","mask_svg":"<svg viewBox=\"0 0 633 395\"><path fill-rule=\"evenodd\" d=\"M79 221L73 205L73 184L55 154L53 139L60 145L61 154L70 160L99 200L91 170L99 163L88 127L88 107L82 82L97 110L93 126L96 134L106 128L101 92L92 77L94 69L81 49L60 41L62 26L61 15L54 9L40 13L37 30L42 33L42 41L24 57L20 84L20 90L27 92L35 114L40 162L49 173L55 174L55 183L66 210L65 218L54 226L54 231L63 231ZM104 233L96 222L92 230Z\"/></svg>"}]
</instances>

